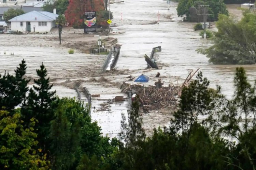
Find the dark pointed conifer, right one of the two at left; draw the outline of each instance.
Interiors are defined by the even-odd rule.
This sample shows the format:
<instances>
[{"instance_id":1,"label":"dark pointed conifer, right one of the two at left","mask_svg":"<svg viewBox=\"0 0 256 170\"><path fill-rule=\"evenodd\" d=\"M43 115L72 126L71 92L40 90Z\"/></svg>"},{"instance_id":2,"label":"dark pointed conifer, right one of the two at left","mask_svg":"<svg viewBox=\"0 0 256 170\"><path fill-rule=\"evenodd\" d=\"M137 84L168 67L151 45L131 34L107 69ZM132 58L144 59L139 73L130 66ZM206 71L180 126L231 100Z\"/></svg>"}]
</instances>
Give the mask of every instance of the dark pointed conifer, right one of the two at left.
<instances>
[{"instance_id":1,"label":"dark pointed conifer, right one of the two at left","mask_svg":"<svg viewBox=\"0 0 256 170\"><path fill-rule=\"evenodd\" d=\"M23 105L22 114L24 124L29 126L31 118L37 119L35 130L38 133L38 141L40 147L44 151L48 151L48 134L50 129L50 122L54 119L54 109L57 106L56 91L50 91L53 85L49 84L49 77L47 77L47 70L43 63L40 69L37 69L39 79L34 80L35 85L33 89L29 90L29 95L26 104Z\"/></svg>"}]
</instances>

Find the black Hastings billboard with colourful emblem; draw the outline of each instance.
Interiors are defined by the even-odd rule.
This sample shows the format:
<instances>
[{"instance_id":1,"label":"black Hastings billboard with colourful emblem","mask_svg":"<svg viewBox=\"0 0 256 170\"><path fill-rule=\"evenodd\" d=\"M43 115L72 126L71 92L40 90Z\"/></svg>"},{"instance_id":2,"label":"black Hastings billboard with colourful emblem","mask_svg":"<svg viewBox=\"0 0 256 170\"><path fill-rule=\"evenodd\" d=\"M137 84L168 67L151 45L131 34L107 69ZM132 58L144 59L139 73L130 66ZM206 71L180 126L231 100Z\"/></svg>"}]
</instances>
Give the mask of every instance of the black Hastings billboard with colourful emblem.
<instances>
[{"instance_id":1,"label":"black Hastings billboard with colourful emblem","mask_svg":"<svg viewBox=\"0 0 256 170\"><path fill-rule=\"evenodd\" d=\"M84 32L96 32L96 12L84 13Z\"/></svg>"}]
</instances>

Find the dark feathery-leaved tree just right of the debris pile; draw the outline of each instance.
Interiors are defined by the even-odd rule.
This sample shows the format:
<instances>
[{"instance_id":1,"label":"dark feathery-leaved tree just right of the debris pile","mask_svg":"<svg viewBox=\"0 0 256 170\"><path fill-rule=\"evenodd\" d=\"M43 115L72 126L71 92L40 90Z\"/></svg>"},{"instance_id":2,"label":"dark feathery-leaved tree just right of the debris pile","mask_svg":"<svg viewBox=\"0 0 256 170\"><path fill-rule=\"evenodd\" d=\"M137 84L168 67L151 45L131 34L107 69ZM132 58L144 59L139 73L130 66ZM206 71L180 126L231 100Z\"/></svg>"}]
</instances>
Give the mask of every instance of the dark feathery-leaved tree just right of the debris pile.
<instances>
[{"instance_id":1,"label":"dark feathery-leaved tree just right of the debris pile","mask_svg":"<svg viewBox=\"0 0 256 170\"><path fill-rule=\"evenodd\" d=\"M215 91L209 88L209 81L199 72L197 79L182 89L179 109L174 112L171 128L190 135L198 116L209 115L215 107Z\"/></svg>"}]
</instances>

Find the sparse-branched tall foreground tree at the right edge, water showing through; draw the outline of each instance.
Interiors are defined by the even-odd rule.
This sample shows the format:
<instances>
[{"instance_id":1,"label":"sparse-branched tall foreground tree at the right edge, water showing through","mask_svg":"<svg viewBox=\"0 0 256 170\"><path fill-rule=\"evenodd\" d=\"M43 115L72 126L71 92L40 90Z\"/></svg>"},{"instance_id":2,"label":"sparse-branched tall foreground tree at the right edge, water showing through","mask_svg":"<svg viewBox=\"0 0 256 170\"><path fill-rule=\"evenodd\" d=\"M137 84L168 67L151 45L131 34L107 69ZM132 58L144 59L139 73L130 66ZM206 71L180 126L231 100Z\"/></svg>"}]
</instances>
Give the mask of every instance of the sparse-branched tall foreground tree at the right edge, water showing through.
<instances>
[{"instance_id":1,"label":"sparse-branched tall foreground tree at the right edge, water showing through","mask_svg":"<svg viewBox=\"0 0 256 170\"><path fill-rule=\"evenodd\" d=\"M234 77L234 97L220 95L218 112L211 116L210 126L216 132L235 139L238 143L227 162L240 169L255 169L256 86L248 82L244 68L237 68ZM253 144L254 143L254 144Z\"/></svg>"}]
</instances>

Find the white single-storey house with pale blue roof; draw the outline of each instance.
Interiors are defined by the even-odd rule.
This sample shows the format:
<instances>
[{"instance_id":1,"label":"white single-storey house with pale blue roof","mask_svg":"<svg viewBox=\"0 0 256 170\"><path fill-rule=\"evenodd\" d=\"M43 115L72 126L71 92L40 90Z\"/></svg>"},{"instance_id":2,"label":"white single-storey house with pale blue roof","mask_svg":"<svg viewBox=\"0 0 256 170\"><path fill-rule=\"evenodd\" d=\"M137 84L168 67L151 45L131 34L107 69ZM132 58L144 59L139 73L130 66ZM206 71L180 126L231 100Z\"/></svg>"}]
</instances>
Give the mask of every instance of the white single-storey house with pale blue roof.
<instances>
[{"instance_id":1,"label":"white single-storey house with pale blue roof","mask_svg":"<svg viewBox=\"0 0 256 170\"><path fill-rule=\"evenodd\" d=\"M21 32L49 32L55 27L57 14L46 11L31 11L9 20L11 30Z\"/></svg>"}]
</instances>

